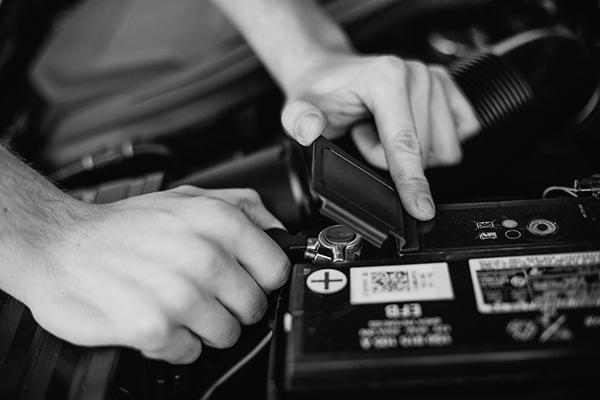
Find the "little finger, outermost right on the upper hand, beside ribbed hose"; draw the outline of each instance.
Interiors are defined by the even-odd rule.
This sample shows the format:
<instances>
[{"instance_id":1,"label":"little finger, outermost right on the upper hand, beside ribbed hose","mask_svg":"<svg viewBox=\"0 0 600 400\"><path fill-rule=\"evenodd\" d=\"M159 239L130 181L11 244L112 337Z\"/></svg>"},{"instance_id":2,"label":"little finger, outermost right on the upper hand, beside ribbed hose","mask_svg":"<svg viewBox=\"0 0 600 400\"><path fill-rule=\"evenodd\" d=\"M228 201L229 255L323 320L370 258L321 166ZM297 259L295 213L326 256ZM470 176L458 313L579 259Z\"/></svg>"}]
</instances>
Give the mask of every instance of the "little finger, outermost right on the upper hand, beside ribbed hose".
<instances>
[{"instance_id":1,"label":"little finger, outermost right on the upper hand, beside ribbed hose","mask_svg":"<svg viewBox=\"0 0 600 400\"><path fill-rule=\"evenodd\" d=\"M429 70L444 87L444 95L454 118L458 139L462 141L476 134L481 129L481 124L477 120L473 107L456 85L448 70L439 65L431 65Z\"/></svg>"}]
</instances>

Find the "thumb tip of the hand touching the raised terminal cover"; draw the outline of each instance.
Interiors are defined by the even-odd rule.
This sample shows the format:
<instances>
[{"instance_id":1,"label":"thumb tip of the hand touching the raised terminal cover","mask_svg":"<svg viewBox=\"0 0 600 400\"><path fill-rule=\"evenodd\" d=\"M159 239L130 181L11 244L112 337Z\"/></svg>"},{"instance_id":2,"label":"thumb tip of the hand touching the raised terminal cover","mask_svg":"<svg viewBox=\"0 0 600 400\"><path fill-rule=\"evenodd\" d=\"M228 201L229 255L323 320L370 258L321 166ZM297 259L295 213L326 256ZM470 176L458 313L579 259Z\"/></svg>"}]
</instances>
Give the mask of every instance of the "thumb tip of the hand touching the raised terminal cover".
<instances>
[{"instance_id":1,"label":"thumb tip of the hand touching the raised terminal cover","mask_svg":"<svg viewBox=\"0 0 600 400\"><path fill-rule=\"evenodd\" d=\"M327 128L327 116L314 104L297 99L285 106L281 123L293 139L308 146Z\"/></svg>"}]
</instances>

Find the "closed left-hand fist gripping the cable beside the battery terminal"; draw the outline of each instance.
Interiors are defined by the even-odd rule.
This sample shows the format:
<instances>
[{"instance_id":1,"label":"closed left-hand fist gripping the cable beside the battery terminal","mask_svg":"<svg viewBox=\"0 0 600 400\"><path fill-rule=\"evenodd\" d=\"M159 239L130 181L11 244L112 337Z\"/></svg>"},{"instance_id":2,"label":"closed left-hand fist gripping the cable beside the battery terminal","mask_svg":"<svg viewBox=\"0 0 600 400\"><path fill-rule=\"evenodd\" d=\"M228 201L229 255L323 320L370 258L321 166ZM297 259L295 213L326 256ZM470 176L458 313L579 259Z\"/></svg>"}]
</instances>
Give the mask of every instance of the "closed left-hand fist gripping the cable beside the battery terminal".
<instances>
[{"instance_id":1,"label":"closed left-hand fist gripping the cable beside the battery terminal","mask_svg":"<svg viewBox=\"0 0 600 400\"><path fill-rule=\"evenodd\" d=\"M232 346L261 319L290 270L263 230L282 228L247 189L191 186L105 205L80 202L23 299L38 323L78 345L124 345L190 363Z\"/></svg>"}]
</instances>

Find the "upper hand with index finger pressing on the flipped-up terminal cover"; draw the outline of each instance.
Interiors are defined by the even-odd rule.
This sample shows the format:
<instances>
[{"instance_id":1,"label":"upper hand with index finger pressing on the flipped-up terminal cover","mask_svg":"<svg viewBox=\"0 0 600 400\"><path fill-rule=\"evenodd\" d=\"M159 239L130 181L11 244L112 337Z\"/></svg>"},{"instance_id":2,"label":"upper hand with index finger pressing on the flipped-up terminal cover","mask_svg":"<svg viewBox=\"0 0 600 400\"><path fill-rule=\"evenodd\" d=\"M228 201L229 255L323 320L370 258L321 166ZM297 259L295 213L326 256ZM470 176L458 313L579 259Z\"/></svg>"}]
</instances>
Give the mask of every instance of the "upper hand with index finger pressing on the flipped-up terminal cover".
<instances>
[{"instance_id":1,"label":"upper hand with index finger pressing on the flipped-up terminal cover","mask_svg":"<svg viewBox=\"0 0 600 400\"><path fill-rule=\"evenodd\" d=\"M351 129L361 154L389 169L404 208L420 220L435 214L424 168L459 163L460 142L479 129L443 67L394 56L332 55L287 95L282 124L294 139L309 145Z\"/></svg>"}]
</instances>

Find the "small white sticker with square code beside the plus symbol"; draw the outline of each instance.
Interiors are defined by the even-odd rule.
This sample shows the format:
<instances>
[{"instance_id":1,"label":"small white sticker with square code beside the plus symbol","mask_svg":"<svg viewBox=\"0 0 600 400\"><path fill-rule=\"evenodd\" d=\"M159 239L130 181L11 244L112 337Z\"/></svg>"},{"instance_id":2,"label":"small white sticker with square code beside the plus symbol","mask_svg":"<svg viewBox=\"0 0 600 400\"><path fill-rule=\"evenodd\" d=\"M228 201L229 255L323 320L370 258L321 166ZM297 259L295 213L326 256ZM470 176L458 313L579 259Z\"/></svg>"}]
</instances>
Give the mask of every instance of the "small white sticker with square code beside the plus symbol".
<instances>
[{"instance_id":1,"label":"small white sticker with square code beside the plus symbol","mask_svg":"<svg viewBox=\"0 0 600 400\"><path fill-rule=\"evenodd\" d=\"M452 300L448 264L385 265L350 269L350 303Z\"/></svg>"}]
</instances>

